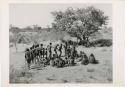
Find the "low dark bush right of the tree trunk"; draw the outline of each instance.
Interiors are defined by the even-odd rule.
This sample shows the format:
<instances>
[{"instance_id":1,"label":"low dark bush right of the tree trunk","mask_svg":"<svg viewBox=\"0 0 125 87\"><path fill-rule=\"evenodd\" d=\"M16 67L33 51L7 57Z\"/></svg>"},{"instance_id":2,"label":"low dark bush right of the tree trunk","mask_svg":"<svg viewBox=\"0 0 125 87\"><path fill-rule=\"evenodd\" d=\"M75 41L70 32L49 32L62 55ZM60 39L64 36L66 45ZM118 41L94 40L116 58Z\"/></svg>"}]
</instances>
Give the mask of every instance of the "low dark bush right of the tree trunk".
<instances>
[{"instance_id":1,"label":"low dark bush right of the tree trunk","mask_svg":"<svg viewBox=\"0 0 125 87\"><path fill-rule=\"evenodd\" d=\"M109 47L112 45L112 40L111 39L99 39L93 42L90 42L90 46L95 46L95 47Z\"/></svg>"}]
</instances>

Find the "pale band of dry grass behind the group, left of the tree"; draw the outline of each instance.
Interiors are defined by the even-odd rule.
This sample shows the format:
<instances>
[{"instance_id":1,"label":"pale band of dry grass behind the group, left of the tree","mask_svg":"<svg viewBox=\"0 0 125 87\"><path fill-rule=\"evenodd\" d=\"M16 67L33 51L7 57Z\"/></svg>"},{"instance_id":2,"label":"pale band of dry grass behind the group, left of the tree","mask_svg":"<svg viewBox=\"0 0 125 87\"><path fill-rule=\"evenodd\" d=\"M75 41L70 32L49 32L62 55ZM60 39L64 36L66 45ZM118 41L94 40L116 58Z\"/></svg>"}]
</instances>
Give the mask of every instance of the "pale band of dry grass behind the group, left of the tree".
<instances>
[{"instance_id":1,"label":"pale band of dry grass behind the group, left of the tree","mask_svg":"<svg viewBox=\"0 0 125 87\"><path fill-rule=\"evenodd\" d=\"M18 41L19 36L25 36L30 40L30 43L40 43L42 41L57 41L62 40L66 36L69 36L66 32L54 32L54 31L42 31L42 32L20 32L18 33L17 37L10 37L10 43L14 43L14 41ZM22 41L23 43L23 41Z\"/></svg>"}]
</instances>

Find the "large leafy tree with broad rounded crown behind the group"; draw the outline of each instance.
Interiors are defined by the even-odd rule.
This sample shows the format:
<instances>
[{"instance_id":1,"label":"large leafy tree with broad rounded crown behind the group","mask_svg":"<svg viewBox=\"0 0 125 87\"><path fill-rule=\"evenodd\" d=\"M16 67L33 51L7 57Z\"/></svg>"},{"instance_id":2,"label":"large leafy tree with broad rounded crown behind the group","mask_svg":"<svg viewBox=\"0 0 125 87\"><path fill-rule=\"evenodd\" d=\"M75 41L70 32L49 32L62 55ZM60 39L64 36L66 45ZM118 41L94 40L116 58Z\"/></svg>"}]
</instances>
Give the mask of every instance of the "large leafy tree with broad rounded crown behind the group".
<instances>
[{"instance_id":1,"label":"large leafy tree with broad rounded crown behind the group","mask_svg":"<svg viewBox=\"0 0 125 87\"><path fill-rule=\"evenodd\" d=\"M91 34L102 29L107 24L108 17L104 12L94 7L67 8L65 11L52 12L54 22L52 27L57 31L66 31L77 37L82 44L89 42Z\"/></svg>"}]
</instances>

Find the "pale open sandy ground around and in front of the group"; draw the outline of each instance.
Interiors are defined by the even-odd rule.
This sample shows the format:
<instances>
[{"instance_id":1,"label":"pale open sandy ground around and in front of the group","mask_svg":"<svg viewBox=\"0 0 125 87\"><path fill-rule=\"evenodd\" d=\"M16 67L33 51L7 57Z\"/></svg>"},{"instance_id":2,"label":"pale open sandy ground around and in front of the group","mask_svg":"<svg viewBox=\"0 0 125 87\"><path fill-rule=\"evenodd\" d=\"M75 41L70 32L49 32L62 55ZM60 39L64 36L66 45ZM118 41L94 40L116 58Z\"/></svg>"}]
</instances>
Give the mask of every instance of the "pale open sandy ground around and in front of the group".
<instances>
[{"instance_id":1,"label":"pale open sandy ground around and in front of the group","mask_svg":"<svg viewBox=\"0 0 125 87\"><path fill-rule=\"evenodd\" d=\"M25 67L24 49L26 45L10 47L10 67L21 70ZM22 83L111 83L112 82L112 47L84 48L78 47L78 51L84 50L89 56L94 53L99 64L81 65L72 67L55 68L47 66L42 69L31 69L31 75L18 77ZM11 69L11 68L10 68ZM11 72L12 73L12 72Z\"/></svg>"}]
</instances>

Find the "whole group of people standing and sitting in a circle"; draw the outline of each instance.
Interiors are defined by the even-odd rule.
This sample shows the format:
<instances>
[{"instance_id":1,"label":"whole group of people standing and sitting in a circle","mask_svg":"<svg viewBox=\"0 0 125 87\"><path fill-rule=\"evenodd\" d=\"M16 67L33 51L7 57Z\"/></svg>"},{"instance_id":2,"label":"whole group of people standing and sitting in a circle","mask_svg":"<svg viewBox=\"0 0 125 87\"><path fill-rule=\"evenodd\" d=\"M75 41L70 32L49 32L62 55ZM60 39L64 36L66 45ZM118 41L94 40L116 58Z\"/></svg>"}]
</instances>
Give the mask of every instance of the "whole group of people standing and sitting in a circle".
<instances>
[{"instance_id":1,"label":"whole group of people standing and sitting in a circle","mask_svg":"<svg viewBox=\"0 0 125 87\"><path fill-rule=\"evenodd\" d=\"M62 50L64 49L64 55L62 56ZM93 53L88 57L84 51L80 51L78 54L75 45L70 45L68 42L64 44L56 44L54 47L50 43L46 48L43 44L32 45L25 50L25 60L30 69L31 63L35 62L44 67L51 65L53 67L65 67L73 66L77 62L81 62L82 65L88 65L89 63L97 63Z\"/></svg>"}]
</instances>

